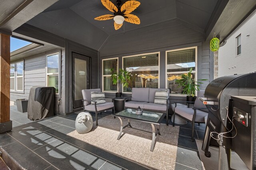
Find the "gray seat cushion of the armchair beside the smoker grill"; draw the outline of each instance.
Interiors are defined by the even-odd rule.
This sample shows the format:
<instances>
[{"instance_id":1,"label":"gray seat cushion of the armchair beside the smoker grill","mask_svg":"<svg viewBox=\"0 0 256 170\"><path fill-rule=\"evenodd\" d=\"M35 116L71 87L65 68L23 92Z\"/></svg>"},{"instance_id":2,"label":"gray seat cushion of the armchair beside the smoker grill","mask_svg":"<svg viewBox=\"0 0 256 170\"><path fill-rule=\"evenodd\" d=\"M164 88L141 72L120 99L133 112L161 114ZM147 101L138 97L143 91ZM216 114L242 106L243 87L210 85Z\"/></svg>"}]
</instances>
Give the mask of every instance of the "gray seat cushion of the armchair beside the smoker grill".
<instances>
[{"instance_id":1,"label":"gray seat cushion of the armchair beside the smoker grill","mask_svg":"<svg viewBox=\"0 0 256 170\"><path fill-rule=\"evenodd\" d=\"M178 113L182 117L186 117L188 120L192 121L194 110L187 107L176 107L175 113ZM196 110L196 122L204 123L204 117L208 116L208 112Z\"/></svg>"}]
</instances>

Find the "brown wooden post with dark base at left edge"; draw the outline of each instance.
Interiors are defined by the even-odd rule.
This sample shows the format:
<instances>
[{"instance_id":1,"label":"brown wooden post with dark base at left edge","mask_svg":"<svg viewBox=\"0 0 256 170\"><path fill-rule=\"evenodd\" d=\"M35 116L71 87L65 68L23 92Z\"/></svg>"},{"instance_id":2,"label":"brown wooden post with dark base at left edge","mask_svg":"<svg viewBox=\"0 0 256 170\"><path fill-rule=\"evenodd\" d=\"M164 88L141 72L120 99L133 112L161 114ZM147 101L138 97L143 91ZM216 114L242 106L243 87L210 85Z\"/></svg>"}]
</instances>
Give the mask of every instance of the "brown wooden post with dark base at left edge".
<instances>
[{"instance_id":1,"label":"brown wooden post with dark base at left edge","mask_svg":"<svg viewBox=\"0 0 256 170\"><path fill-rule=\"evenodd\" d=\"M10 36L0 34L0 133L12 130L10 121Z\"/></svg>"}]
</instances>

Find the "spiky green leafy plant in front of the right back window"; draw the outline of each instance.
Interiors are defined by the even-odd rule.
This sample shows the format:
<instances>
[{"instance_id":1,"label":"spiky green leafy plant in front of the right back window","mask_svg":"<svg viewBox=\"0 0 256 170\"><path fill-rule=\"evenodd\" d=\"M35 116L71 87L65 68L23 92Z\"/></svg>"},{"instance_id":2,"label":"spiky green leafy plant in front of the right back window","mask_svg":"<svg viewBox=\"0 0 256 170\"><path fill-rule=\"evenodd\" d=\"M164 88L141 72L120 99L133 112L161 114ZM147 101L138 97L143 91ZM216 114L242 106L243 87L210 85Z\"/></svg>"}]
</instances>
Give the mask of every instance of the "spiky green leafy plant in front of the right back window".
<instances>
[{"instance_id":1,"label":"spiky green leafy plant in front of the right back window","mask_svg":"<svg viewBox=\"0 0 256 170\"><path fill-rule=\"evenodd\" d=\"M198 79L198 81L196 81L192 77L192 70L193 68L191 67L188 73L179 75L180 79L177 79L176 83L179 84L178 87L181 87L181 86L184 87L183 94L187 94L188 96L194 97L196 94L196 91L198 91L200 87L200 85L198 84L202 84L202 82L200 81L206 81L208 79Z\"/></svg>"}]
</instances>

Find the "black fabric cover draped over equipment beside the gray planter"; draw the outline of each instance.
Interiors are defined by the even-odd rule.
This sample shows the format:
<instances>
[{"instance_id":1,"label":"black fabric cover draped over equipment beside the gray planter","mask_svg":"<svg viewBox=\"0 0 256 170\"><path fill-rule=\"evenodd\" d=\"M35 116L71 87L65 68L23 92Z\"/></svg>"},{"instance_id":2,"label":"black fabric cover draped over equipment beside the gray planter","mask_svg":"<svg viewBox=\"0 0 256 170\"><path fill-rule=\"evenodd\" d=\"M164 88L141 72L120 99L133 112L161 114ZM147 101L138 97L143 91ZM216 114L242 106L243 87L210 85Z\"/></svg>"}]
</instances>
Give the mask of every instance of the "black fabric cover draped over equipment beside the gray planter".
<instances>
[{"instance_id":1,"label":"black fabric cover draped over equipment beside the gray planter","mask_svg":"<svg viewBox=\"0 0 256 170\"><path fill-rule=\"evenodd\" d=\"M54 116L54 87L31 87L28 97L28 119L36 121Z\"/></svg>"}]
</instances>

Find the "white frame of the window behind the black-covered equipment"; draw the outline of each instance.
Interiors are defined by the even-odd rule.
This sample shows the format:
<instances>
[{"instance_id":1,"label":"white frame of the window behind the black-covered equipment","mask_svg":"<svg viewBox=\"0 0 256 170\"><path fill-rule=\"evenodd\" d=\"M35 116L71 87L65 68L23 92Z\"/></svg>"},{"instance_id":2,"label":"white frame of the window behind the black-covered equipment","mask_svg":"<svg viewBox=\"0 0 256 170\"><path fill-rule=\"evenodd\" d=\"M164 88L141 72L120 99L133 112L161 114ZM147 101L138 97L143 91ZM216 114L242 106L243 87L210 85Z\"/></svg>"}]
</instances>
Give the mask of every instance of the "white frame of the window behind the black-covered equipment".
<instances>
[{"instance_id":1,"label":"white frame of the window behind the black-covered equipment","mask_svg":"<svg viewBox=\"0 0 256 170\"><path fill-rule=\"evenodd\" d=\"M48 73L48 57L58 54L58 73ZM56 53L50 53L46 55L46 87L48 86L48 75L58 75L58 93L55 93L56 97L61 97L61 51Z\"/></svg>"}]
</instances>

